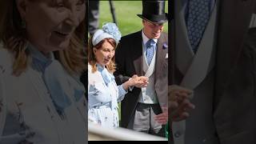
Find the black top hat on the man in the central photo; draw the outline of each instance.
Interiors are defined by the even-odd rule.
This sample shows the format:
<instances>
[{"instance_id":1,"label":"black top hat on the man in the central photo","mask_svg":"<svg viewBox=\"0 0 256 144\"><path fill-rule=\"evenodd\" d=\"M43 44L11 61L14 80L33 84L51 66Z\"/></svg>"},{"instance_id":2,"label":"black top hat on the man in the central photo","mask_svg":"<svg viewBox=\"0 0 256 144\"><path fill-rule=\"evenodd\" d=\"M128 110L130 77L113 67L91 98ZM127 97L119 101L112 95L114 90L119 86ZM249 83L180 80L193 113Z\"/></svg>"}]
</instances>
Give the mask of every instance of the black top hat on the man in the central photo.
<instances>
[{"instance_id":1,"label":"black top hat on the man in the central photo","mask_svg":"<svg viewBox=\"0 0 256 144\"><path fill-rule=\"evenodd\" d=\"M165 13L165 1L142 1L142 6L142 14L137 14L138 17L157 23L168 21L168 14Z\"/></svg>"}]
</instances>

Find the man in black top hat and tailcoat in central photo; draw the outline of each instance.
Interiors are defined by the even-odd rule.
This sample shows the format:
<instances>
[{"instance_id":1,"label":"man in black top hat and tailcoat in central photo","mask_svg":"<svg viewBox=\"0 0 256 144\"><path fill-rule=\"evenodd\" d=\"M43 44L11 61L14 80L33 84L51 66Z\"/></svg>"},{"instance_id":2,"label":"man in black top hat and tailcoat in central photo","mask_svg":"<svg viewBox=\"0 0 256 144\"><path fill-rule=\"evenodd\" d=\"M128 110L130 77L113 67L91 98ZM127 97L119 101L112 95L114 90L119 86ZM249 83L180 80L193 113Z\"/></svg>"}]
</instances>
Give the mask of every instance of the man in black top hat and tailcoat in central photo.
<instances>
[{"instance_id":1,"label":"man in black top hat and tailcoat in central photo","mask_svg":"<svg viewBox=\"0 0 256 144\"><path fill-rule=\"evenodd\" d=\"M134 74L149 78L146 88L133 87L122 101L121 126L164 136L164 127L155 116L167 113L168 37L165 1L142 1L142 30L121 38L115 54L118 84Z\"/></svg>"}]
</instances>

